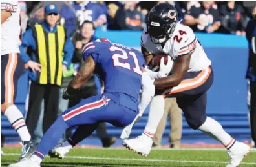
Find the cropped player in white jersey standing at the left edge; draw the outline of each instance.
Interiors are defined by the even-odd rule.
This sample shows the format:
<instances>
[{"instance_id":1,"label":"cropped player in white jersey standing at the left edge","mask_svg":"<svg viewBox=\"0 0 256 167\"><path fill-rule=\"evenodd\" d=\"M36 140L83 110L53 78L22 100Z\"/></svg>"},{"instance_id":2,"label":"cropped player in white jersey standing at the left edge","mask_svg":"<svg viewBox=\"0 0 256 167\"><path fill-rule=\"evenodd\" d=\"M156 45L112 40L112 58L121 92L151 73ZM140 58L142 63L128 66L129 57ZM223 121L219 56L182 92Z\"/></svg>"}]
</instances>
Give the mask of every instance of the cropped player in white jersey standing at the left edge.
<instances>
[{"instance_id":1,"label":"cropped player in white jersey standing at the left edge","mask_svg":"<svg viewBox=\"0 0 256 167\"><path fill-rule=\"evenodd\" d=\"M14 105L17 95L17 81L24 72L24 63L19 57L21 40L20 8L17 1L1 1L1 112L21 137L23 149L21 159L29 157L28 152L35 144L31 140L21 111Z\"/></svg>"}]
</instances>

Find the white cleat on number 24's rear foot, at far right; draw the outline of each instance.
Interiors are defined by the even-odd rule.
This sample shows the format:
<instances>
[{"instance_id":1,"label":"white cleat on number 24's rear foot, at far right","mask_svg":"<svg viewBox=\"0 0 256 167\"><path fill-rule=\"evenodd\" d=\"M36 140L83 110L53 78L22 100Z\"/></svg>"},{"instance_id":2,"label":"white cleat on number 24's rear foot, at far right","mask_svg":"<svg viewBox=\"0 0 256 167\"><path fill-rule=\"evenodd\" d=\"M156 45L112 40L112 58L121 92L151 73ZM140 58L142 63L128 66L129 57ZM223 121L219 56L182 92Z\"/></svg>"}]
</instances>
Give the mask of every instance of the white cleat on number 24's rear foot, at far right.
<instances>
[{"instance_id":1,"label":"white cleat on number 24's rear foot, at far right","mask_svg":"<svg viewBox=\"0 0 256 167\"><path fill-rule=\"evenodd\" d=\"M242 142L235 141L235 144L228 150L229 164L226 167L239 166L242 159L250 152L250 146Z\"/></svg>"}]
</instances>

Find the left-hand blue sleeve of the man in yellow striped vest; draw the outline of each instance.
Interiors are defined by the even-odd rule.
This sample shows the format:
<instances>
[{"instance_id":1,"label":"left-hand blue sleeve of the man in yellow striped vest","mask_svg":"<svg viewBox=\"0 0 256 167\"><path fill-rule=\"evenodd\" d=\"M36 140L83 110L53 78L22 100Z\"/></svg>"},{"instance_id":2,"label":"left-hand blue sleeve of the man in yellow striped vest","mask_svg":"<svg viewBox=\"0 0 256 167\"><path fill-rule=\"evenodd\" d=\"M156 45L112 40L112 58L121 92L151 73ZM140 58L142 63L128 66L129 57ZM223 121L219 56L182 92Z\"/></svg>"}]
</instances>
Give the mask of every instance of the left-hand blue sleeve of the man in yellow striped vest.
<instances>
[{"instance_id":1,"label":"left-hand blue sleeve of the man in yellow striped vest","mask_svg":"<svg viewBox=\"0 0 256 167\"><path fill-rule=\"evenodd\" d=\"M33 50L36 50L36 40L34 39L34 35L33 35L33 31L32 29L28 29L21 37L21 45L19 46L19 50L20 50L20 56L21 59L23 59L23 61L25 63L27 63L30 60L29 55L27 54L27 52L25 52L25 48L27 48L28 46L31 46Z\"/></svg>"}]
</instances>

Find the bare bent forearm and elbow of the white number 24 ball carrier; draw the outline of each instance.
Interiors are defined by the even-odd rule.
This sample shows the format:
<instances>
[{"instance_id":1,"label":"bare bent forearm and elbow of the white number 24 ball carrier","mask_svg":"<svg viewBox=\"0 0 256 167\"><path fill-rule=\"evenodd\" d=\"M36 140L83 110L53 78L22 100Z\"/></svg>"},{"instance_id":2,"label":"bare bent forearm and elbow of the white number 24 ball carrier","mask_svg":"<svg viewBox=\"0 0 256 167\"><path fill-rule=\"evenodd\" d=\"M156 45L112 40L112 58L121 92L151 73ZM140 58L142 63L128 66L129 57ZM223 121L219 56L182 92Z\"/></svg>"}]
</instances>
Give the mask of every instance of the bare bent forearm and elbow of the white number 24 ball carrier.
<instances>
[{"instance_id":1,"label":"bare bent forearm and elbow of the white number 24 ball carrier","mask_svg":"<svg viewBox=\"0 0 256 167\"><path fill-rule=\"evenodd\" d=\"M189 69L191 54L179 56L173 64L173 74L161 79L156 79L154 84L156 88L173 88L178 86L187 70Z\"/></svg>"}]
</instances>

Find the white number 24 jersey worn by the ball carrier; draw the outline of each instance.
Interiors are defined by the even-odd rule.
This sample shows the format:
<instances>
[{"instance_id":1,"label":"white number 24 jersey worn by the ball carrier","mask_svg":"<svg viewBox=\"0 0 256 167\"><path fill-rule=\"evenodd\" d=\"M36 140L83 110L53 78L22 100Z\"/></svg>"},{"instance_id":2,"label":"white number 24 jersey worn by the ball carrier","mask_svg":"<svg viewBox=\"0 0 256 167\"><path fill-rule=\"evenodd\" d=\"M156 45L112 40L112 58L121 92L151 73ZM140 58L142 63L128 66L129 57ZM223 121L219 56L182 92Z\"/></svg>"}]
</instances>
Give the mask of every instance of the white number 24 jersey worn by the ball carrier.
<instances>
[{"instance_id":1,"label":"white number 24 jersey worn by the ball carrier","mask_svg":"<svg viewBox=\"0 0 256 167\"><path fill-rule=\"evenodd\" d=\"M173 61L179 56L192 53L189 63L189 72L198 72L211 65L211 61L208 59L193 30L189 28L189 26L180 23L177 23L173 35L166 41L163 48L161 44L152 42L150 35L147 33L147 28L144 28L140 44L147 49L149 53L164 53L171 56Z\"/></svg>"}]
</instances>

